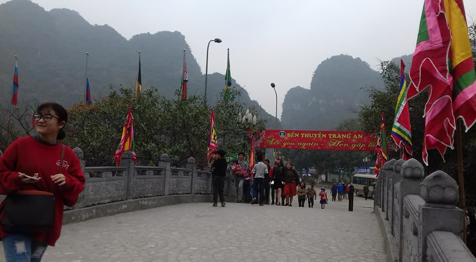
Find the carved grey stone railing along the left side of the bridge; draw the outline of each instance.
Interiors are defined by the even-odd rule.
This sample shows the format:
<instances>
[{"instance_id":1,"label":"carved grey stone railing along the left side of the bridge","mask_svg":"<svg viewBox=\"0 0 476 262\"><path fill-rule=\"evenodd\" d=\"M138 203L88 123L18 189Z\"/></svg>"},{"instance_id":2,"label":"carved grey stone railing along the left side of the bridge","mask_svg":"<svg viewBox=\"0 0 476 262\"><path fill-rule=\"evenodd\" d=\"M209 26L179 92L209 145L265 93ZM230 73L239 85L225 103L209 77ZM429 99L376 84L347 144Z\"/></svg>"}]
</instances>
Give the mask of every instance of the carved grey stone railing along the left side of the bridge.
<instances>
[{"instance_id":1,"label":"carved grey stone railing along the left side of the bridge","mask_svg":"<svg viewBox=\"0 0 476 262\"><path fill-rule=\"evenodd\" d=\"M131 152L124 152L120 166L88 167L80 148L73 149L86 182L72 208L65 207L65 223L183 202L211 201L211 172L197 170L190 157L185 168L171 167L167 154L157 166L136 166ZM225 196L236 197L235 181L227 172Z\"/></svg>"}]
</instances>

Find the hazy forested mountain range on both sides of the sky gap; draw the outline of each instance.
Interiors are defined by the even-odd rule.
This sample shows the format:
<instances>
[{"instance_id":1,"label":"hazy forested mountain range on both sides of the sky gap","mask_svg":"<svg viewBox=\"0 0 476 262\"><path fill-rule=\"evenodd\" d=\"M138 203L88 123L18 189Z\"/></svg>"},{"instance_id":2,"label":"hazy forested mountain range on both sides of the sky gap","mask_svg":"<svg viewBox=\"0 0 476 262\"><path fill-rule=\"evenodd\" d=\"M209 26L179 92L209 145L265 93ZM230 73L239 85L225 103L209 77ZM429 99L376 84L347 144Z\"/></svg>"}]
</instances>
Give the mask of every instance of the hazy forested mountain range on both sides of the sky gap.
<instances>
[{"instance_id":1,"label":"hazy forested mountain range on both sides of the sky gap","mask_svg":"<svg viewBox=\"0 0 476 262\"><path fill-rule=\"evenodd\" d=\"M92 98L106 97L110 87L132 87L141 51L142 88L156 87L161 95L175 97L180 86L185 49L188 94L203 95L204 74L185 36L180 32L143 33L130 40L108 25L91 25L69 9L45 9L29 0L0 5L0 106L11 98L14 55L19 57L19 101L58 101L66 106L84 100L85 52L89 52L88 77ZM232 62L233 63L233 62ZM233 76L233 75L232 75ZM238 79L239 81L239 79ZM214 104L225 76L208 75L207 101ZM232 85L241 86L233 79ZM317 66L310 89L291 88L283 103L280 127L297 130L330 130L341 120L355 116L369 101L363 88L382 89L379 72L359 58L338 55ZM269 96L274 99L274 96ZM261 118L274 128L274 112L268 114L245 89L240 102L255 106Z\"/></svg>"}]
</instances>

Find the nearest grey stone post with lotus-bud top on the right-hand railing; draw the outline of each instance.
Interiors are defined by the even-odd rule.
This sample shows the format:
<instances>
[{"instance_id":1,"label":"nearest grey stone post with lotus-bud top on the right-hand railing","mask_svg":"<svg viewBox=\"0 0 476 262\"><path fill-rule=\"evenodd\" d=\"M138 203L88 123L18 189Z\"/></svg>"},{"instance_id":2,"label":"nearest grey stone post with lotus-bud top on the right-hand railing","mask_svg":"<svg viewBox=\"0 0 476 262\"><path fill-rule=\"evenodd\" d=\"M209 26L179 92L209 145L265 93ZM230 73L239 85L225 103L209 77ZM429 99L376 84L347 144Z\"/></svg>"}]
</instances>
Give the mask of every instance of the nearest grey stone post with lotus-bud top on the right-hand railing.
<instances>
[{"instance_id":1,"label":"nearest grey stone post with lotus-bud top on the right-hand railing","mask_svg":"<svg viewBox=\"0 0 476 262\"><path fill-rule=\"evenodd\" d=\"M426 201L418 207L418 261L426 261L427 236L433 231L448 231L462 236L464 211L455 207L458 184L438 170L420 184L420 195Z\"/></svg>"}]
</instances>

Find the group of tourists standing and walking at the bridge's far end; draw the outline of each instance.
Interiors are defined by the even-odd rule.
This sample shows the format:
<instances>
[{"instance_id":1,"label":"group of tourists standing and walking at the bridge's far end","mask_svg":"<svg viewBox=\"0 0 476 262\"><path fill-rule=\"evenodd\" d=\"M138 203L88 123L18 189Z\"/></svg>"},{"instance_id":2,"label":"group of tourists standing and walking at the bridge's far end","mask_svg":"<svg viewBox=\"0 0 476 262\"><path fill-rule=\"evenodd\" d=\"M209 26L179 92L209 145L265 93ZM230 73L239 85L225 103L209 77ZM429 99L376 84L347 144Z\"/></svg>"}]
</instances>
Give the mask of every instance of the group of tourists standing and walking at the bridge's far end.
<instances>
[{"instance_id":1,"label":"group of tourists standing and walking at the bridge's far end","mask_svg":"<svg viewBox=\"0 0 476 262\"><path fill-rule=\"evenodd\" d=\"M225 151L217 150L213 158L211 165L213 206L218 206L219 196L221 205L226 206L223 197L227 169ZM271 196L272 205L293 206L294 196L297 196L299 207L304 207L307 199L308 207L313 208L314 200L317 200L319 196L321 208L325 208L327 193L324 187L317 193L314 186L306 187L305 183L300 181L299 175L290 162L285 166L283 160L277 157L274 166L271 167L270 161L263 158L262 154L257 154L257 163L252 170L249 170L248 163L244 161L244 153L238 153L238 160L233 162L230 172L230 176L235 178L238 203L244 201L262 206L269 203Z\"/></svg>"}]
</instances>

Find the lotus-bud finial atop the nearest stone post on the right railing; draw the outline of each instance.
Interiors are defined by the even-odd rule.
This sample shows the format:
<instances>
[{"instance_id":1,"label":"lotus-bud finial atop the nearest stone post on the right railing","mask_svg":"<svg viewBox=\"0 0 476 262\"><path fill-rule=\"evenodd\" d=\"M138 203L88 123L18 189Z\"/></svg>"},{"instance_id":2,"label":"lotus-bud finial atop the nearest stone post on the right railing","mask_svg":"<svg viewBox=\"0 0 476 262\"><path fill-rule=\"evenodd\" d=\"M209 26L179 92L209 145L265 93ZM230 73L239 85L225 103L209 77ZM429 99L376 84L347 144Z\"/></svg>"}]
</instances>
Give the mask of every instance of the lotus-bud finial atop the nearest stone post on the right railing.
<instances>
[{"instance_id":1,"label":"lotus-bud finial atop the nearest stone post on the right railing","mask_svg":"<svg viewBox=\"0 0 476 262\"><path fill-rule=\"evenodd\" d=\"M421 182L420 196L427 206L454 208L458 199L458 184L448 174L438 170Z\"/></svg>"}]
</instances>

